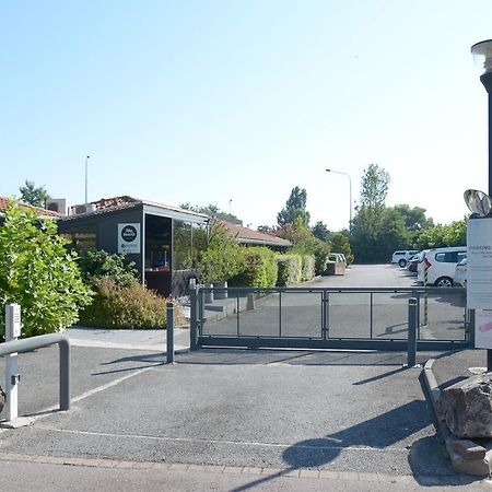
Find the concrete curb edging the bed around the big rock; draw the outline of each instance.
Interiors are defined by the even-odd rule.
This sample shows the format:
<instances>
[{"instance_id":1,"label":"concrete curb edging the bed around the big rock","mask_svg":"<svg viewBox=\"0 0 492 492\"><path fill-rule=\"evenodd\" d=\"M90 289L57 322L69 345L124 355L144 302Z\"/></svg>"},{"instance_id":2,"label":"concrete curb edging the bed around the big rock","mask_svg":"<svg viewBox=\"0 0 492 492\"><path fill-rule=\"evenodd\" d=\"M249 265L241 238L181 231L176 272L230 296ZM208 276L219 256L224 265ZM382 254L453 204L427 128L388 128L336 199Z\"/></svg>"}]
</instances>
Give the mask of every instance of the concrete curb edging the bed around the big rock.
<instances>
[{"instance_id":1,"label":"concrete curb edging the bed around the big rock","mask_svg":"<svg viewBox=\"0 0 492 492\"><path fill-rule=\"evenodd\" d=\"M472 441L460 440L454 436L446 424L440 419L437 401L441 397L441 389L432 368L435 359L430 359L425 363L422 374L427 389L427 399L431 400L430 402L434 412L435 425L437 432L444 440L453 469L457 473L471 475L473 477L490 477L492 472L492 449L487 450Z\"/></svg>"}]
</instances>

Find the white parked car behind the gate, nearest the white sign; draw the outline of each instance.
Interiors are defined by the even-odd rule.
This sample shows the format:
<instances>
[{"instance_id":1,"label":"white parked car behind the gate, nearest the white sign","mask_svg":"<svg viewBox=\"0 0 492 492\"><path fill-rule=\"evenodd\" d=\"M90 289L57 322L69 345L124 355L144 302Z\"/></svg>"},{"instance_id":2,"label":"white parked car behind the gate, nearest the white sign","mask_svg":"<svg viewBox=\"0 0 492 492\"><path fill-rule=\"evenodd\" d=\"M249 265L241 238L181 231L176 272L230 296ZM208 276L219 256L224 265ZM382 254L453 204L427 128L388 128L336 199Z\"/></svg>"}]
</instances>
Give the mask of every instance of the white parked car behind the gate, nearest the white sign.
<instances>
[{"instance_id":1,"label":"white parked car behind the gate, nearest the white sign","mask_svg":"<svg viewBox=\"0 0 492 492\"><path fill-rule=\"evenodd\" d=\"M424 283L427 271L427 285L453 286L456 265L467 256L466 246L426 249L422 251L417 267L417 281Z\"/></svg>"}]
</instances>

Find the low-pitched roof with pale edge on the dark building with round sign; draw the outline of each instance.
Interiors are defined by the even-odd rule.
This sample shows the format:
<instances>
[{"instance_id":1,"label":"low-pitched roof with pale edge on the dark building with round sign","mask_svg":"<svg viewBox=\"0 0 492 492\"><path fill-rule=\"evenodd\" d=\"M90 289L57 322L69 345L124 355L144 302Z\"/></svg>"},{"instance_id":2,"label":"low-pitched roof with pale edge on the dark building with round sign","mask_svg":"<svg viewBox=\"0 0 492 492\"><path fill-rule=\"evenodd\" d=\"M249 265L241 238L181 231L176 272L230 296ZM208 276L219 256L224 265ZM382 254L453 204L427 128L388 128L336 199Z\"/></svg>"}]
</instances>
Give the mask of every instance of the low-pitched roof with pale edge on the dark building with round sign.
<instances>
[{"instance_id":1,"label":"low-pitched roof with pale edge on the dark building with round sign","mask_svg":"<svg viewBox=\"0 0 492 492\"><path fill-rule=\"evenodd\" d=\"M72 213L71 215L63 216L63 220L77 220L81 218L90 218L93 215L98 215L103 213L112 213L119 210L132 209L137 206L145 206L148 209L154 209L154 211L165 212L169 216L173 216L177 220L186 220L186 218L195 218L197 221L192 222L207 222L209 216L204 213L197 213L191 210L184 210L179 207L167 206L163 203L157 203L155 201L142 200L140 198L130 197L128 195L122 195L120 197L113 198L101 198L99 200L92 201L91 203L94 207L94 210L90 210L85 213ZM72 211L79 206L73 206ZM149 210L151 211L151 210Z\"/></svg>"}]
</instances>

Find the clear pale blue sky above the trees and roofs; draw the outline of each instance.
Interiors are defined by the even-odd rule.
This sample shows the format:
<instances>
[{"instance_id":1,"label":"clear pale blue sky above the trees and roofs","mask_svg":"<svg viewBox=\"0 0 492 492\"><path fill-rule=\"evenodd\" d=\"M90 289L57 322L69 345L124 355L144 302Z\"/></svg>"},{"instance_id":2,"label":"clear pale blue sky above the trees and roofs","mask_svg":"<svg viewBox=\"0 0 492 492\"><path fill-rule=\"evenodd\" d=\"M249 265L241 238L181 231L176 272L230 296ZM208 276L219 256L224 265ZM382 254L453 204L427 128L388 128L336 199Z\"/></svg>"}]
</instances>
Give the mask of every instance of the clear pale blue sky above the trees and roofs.
<instances>
[{"instance_id":1,"label":"clear pale blue sky above the trees and roofs","mask_svg":"<svg viewBox=\"0 0 492 492\"><path fill-rule=\"evenodd\" d=\"M90 201L256 227L300 186L337 231L375 163L388 206L460 220L488 186L470 47L491 19L490 0L0 0L0 195L30 179L83 203L90 155Z\"/></svg>"}]
</instances>

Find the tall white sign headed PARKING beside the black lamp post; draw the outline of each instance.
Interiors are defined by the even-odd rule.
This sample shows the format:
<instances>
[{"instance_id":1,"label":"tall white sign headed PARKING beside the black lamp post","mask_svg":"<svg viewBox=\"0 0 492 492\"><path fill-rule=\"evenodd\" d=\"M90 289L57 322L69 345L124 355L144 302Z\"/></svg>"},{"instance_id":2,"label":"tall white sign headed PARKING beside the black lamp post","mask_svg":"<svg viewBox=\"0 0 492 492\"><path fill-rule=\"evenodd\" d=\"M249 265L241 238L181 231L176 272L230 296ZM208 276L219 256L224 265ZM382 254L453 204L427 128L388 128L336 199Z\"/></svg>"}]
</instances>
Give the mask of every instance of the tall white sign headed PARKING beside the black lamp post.
<instances>
[{"instance_id":1,"label":"tall white sign headed PARKING beside the black lamp post","mask_svg":"<svg viewBox=\"0 0 492 492\"><path fill-rule=\"evenodd\" d=\"M492 219L468 221L467 307L492 309Z\"/></svg>"}]
</instances>

